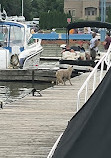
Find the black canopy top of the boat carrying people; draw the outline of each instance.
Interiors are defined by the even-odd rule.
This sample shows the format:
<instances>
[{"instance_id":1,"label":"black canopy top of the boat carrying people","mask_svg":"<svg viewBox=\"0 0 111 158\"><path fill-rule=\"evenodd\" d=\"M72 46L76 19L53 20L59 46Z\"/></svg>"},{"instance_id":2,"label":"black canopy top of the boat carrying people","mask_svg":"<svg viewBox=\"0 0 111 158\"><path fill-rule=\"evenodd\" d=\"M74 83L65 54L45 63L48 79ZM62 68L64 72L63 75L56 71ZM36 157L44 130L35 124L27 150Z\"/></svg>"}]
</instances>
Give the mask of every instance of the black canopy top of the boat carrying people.
<instances>
[{"instance_id":1,"label":"black canopy top of the boat carrying people","mask_svg":"<svg viewBox=\"0 0 111 158\"><path fill-rule=\"evenodd\" d=\"M111 29L111 23L100 22L100 21L80 21L74 22L67 26L68 32L74 28L84 28L84 27L96 27L96 28L107 28Z\"/></svg>"}]
</instances>

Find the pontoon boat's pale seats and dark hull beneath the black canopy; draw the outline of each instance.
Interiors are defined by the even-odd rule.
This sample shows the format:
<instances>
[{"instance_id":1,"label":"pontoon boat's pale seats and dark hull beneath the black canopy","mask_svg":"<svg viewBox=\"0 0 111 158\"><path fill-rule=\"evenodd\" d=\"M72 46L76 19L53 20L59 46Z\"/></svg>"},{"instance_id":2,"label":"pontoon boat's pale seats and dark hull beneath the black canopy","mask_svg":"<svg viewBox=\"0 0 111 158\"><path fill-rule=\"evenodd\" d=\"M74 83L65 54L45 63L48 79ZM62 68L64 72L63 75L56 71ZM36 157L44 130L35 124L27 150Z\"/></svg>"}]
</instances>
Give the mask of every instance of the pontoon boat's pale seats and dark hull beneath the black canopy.
<instances>
[{"instance_id":1,"label":"pontoon boat's pale seats and dark hull beneath the black canopy","mask_svg":"<svg viewBox=\"0 0 111 158\"><path fill-rule=\"evenodd\" d=\"M86 59L86 52L83 47L72 46L71 48L65 48L66 45L60 46L63 50L61 59L59 60L60 68L67 68L69 65L73 65L74 70L78 72L90 71L92 67L96 65L95 61Z\"/></svg>"}]
</instances>

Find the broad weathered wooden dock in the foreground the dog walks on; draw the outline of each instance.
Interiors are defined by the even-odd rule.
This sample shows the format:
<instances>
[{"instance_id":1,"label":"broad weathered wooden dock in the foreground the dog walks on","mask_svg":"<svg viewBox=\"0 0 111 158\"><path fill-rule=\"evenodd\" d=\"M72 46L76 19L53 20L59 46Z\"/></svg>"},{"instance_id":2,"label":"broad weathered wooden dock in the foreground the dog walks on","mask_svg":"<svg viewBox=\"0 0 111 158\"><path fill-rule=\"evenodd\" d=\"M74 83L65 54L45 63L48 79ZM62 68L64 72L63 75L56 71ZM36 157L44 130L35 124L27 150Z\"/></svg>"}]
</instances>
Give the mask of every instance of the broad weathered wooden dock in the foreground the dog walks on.
<instances>
[{"instance_id":1,"label":"broad weathered wooden dock in the foreground the dog walks on","mask_svg":"<svg viewBox=\"0 0 111 158\"><path fill-rule=\"evenodd\" d=\"M0 110L0 157L47 158L58 136L76 113L77 92L89 73L72 86L53 86L4 105Z\"/></svg>"}]
</instances>

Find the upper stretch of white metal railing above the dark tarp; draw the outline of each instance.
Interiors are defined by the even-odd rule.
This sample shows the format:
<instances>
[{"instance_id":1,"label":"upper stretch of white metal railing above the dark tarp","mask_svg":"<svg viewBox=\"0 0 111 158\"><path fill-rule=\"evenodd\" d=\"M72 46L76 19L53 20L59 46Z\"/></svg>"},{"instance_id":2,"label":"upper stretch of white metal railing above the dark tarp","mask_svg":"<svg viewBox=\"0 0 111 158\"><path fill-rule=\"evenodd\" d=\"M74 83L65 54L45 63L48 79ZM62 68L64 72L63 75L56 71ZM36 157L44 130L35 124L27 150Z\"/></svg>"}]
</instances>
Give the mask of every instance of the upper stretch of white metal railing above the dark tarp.
<instances>
[{"instance_id":1,"label":"upper stretch of white metal railing above the dark tarp","mask_svg":"<svg viewBox=\"0 0 111 158\"><path fill-rule=\"evenodd\" d=\"M102 56L102 58L96 64L96 66L94 67L94 69L89 74L89 76L87 77L86 81L84 82L84 84L82 85L82 87L80 88L80 90L78 91L78 94L77 94L77 111L80 108L80 94L83 92L83 90L85 90L85 93L84 93L84 103L87 101L87 99L89 97L88 96L88 85L89 85L90 79L93 77L93 83L92 83L92 93L93 93L95 91L96 87L97 87L97 85L96 85L97 84L97 82L96 82L97 81L97 78L96 78L97 77L97 71L100 70L100 76L99 76L99 82L98 82L98 85L99 85L99 83L103 79L104 65L106 64L106 67L107 67L105 73L110 68L110 66L111 66L110 53L111 53L111 44L109 46L108 51ZM98 69L98 67L100 67L100 68Z\"/></svg>"}]
</instances>

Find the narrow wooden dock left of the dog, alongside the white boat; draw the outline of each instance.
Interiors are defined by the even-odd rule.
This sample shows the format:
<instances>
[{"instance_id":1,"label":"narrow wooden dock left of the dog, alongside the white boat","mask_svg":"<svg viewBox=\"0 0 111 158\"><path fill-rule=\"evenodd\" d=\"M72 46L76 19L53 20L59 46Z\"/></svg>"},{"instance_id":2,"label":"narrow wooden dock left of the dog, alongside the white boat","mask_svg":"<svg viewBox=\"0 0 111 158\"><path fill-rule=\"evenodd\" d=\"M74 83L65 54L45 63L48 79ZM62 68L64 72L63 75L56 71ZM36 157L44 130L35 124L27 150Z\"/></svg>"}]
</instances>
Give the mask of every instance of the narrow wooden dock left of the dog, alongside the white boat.
<instances>
[{"instance_id":1,"label":"narrow wooden dock left of the dog, alongside the white boat","mask_svg":"<svg viewBox=\"0 0 111 158\"><path fill-rule=\"evenodd\" d=\"M44 68L44 69L7 69L0 70L0 81L55 81L56 69Z\"/></svg>"}]
</instances>

